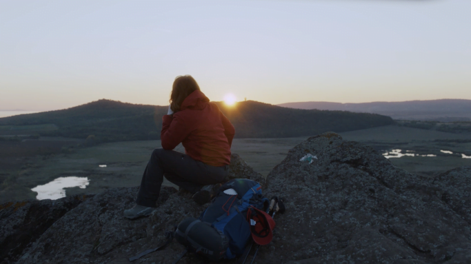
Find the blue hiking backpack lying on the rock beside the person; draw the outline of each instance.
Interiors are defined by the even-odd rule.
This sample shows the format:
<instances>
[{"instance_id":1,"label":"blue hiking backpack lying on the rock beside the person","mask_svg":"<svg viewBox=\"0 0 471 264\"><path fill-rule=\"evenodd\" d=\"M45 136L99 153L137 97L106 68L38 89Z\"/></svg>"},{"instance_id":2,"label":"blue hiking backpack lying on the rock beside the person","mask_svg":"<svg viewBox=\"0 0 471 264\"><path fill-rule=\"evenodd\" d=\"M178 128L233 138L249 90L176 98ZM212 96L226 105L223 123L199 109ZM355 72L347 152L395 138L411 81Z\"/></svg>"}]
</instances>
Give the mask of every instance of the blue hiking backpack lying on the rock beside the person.
<instances>
[{"instance_id":1,"label":"blue hiking backpack lying on the rock beside the person","mask_svg":"<svg viewBox=\"0 0 471 264\"><path fill-rule=\"evenodd\" d=\"M251 237L246 219L248 207L263 210L268 203L262 196L260 183L233 179L219 188L199 219L183 220L175 237L189 252L206 256L211 261L235 258L243 253Z\"/></svg>"}]
</instances>

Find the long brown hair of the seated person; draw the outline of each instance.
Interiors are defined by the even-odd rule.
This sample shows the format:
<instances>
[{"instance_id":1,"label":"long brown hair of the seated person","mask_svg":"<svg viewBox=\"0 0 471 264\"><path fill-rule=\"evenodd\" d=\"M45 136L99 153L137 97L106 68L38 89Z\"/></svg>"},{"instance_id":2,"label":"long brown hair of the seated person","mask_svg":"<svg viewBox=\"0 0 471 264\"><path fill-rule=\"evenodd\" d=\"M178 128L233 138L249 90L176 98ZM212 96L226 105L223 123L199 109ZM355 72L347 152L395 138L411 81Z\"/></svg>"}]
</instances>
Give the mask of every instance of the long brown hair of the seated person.
<instances>
[{"instance_id":1,"label":"long brown hair of the seated person","mask_svg":"<svg viewBox=\"0 0 471 264\"><path fill-rule=\"evenodd\" d=\"M172 92L170 93L170 108L172 108L172 111L178 112L181 103L183 103L188 95L196 90L199 90L199 85L191 75L177 76L173 82Z\"/></svg>"}]
</instances>

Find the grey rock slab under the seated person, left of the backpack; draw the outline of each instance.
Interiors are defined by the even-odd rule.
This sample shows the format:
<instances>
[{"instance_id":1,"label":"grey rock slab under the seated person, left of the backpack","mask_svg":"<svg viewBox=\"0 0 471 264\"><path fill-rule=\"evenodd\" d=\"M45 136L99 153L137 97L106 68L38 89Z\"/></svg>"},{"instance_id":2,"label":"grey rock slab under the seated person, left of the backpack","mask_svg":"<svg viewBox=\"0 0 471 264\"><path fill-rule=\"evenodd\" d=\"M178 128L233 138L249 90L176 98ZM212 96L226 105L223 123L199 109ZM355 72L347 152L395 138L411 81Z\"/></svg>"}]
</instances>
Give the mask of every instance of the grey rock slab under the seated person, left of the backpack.
<instances>
[{"instance_id":1,"label":"grey rock slab under the seated person, left of the backpack","mask_svg":"<svg viewBox=\"0 0 471 264\"><path fill-rule=\"evenodd\" d=\"M229 170L231 179L263 181L261 174L254 172L237 154L232 154ZM20 256L17 263L129 263L128 258L159 246L167 231L173 231L186 217L199 217L209 205L198 205L190 193L163 186L157 210L150 217L130 221L123 217L123 210L132 207L137 190L138 187L121 187L95 195L1 205L0 241L1 245L8 244L1 247L1 252L3 248L12 248L1 263L14 263ZM75 201L73 206L69 205L71 201ZM64 204L68 210L63 209ZM28 208L36 208L32 205L41 208L41 216L28 214L32 212ZM28 218L28 215L32 216ZM41 227L46 223L47 226ZM35 226L39 228L34 229ZM25 231L26 228L29 229ZM12 238L30 232L36 235L23 239L26 242L21 246L12 244ZM183 246L173 241L165 250L134 263L171 263L183 250ZM7 255L10 257L6 258ZM188 255L182 263L192 260L196 261Z\"/></svg>"}]
</instances>

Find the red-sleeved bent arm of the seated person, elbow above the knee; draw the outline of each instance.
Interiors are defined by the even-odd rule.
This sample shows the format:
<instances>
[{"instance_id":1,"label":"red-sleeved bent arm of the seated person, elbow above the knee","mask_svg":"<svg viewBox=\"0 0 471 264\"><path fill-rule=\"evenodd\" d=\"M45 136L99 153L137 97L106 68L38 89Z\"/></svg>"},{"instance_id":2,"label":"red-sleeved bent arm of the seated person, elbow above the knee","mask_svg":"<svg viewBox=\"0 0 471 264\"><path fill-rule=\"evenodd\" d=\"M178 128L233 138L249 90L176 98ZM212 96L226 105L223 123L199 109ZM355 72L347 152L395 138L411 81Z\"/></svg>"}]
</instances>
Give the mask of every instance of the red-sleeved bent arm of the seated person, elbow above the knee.
<instances>
[{"instance_id":1,"label":"red-sleeved bent arm of the seated person, elbow above the knee","mask_svg":"<svg viewBox=\"0 0 471 264\"><path fill-rule=\"evenodd\" d=\"M190 134L188 124L179 113L166 114L162 117L160 140L164 150L173 150L188 134Z\"/></svg>"}]
</instances>

